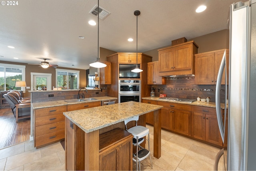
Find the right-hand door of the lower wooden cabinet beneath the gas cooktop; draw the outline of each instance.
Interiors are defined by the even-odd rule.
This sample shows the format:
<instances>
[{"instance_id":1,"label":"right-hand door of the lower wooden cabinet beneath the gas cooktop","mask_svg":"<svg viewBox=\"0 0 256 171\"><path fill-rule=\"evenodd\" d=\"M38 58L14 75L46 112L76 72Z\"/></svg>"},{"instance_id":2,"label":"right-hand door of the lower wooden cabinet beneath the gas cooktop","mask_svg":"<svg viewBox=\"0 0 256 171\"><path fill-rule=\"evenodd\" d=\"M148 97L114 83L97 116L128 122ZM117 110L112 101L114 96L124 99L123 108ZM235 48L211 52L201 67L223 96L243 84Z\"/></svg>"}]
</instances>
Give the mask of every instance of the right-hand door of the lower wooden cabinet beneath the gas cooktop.
<instances>
[{"instance_id":1,"label":"right-hand door of the lower wooden cabinet beneath the gas cooktop","mask_svg":"<svg viewBox=\"0 0 256 171\"><path fill-rule=\"evenodd\" d=\"M191 111L172 109L174 111L174 131L191 135Z\"/></svg>"}]
</instances>

